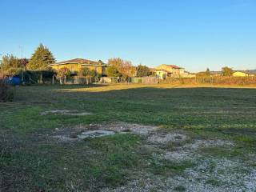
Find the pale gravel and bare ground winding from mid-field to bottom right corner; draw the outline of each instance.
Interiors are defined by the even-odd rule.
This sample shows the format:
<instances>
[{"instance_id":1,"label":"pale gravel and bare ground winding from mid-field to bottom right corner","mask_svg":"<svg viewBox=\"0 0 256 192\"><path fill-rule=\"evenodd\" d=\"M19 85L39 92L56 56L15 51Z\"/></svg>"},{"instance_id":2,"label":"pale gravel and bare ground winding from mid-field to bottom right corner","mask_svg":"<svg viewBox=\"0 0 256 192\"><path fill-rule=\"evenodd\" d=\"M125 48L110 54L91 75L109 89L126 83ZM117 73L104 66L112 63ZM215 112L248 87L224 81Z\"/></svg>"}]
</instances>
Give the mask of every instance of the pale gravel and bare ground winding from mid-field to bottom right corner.
<instances>
[{"instance_id":1,"label":"pale gravel and bare ground winding from mid-field to bottom right corner","mask_svg":"<svg viewBox=\"0 0 256 192\"><path fill-rule=\"evenodd\" d=\"M194 162L195 166L187 168L183 174L177 176L156 176L149 173L134 173L134 178L127 178L129 182L115 189L102 189L102 192L151 192L151 191L256 191L256 169L248 166L248 162L240 162L227 158L204 157L200 150L211 147L234 147L234 142L217 140L193 140L186 134L172 130L166 133L157 126L143 126L125 122L105 125L90 124L75 128L54 131L54 137L66 142L78 141L74 134L81 134L90 130L111 130L115 133L134 133L146 138L142 147L152 147L154 158L171 161ZM171 149L170 143L178 143ZM255 155L248 154L250 162L254 162ZM247 163L247 164L246 164Z\"/></svg>"}]
</instances>

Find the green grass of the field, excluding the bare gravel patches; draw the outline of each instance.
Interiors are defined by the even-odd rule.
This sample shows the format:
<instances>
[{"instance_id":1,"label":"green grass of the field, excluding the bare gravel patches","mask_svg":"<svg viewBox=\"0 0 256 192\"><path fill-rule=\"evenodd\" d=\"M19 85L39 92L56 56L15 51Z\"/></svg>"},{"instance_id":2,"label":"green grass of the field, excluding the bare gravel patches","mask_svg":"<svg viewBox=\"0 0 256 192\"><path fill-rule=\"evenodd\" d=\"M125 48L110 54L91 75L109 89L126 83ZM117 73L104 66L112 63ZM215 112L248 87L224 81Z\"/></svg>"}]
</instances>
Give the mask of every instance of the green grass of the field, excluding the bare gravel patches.
<instances>
[{"instance_id":1,"label":"green grass of the field, excluding the bare gravel patches","mask_svg":"<svg viewBox=\"0 0 256 192\"><path fill-rule=\"evenodd\" d=\"M143 149L141 143L146 141L134 134L74 144L46 140L45 135L57 127L107 122L156 125L185 131L191 138L233 140L238 143L233 150L201 153L241 159L256 145L256 89L20 86L15 93L14 102L0 103L0 191L97 191L125 184L136 171L165 177L194 166L152 158L158 151ZM56 109L92 114L40 114Z\"/></svg>"}]
</instances>

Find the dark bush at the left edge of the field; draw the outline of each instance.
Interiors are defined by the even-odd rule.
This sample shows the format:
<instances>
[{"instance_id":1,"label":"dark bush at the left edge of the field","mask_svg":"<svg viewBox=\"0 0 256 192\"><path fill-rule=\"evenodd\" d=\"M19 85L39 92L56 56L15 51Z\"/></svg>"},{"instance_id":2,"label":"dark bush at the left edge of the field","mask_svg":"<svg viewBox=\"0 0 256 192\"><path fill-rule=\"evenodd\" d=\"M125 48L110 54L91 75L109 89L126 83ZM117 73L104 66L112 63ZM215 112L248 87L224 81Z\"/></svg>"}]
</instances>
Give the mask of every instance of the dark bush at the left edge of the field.
<instances>
[{"instance_id":1,"label":"dark bush at the left edge of the field","mask_svg":"<svg viewBox=\"0 0 256 192\"><path fill-rule=\"evenodd\" d=\"M0 102L12 102L14 100L14 91L6 84L4 79L0 79Z\"/></svg>"}]
</instances>

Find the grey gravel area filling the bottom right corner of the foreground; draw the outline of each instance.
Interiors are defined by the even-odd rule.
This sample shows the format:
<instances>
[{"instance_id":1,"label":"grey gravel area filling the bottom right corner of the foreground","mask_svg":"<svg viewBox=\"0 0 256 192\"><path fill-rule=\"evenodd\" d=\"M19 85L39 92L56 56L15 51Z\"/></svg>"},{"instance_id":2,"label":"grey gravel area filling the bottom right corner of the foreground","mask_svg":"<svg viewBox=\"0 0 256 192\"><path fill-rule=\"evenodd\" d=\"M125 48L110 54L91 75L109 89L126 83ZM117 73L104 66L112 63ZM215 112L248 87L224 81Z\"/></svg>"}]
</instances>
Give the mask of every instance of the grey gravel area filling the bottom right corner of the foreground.
<instances>
[{"instance_id":1,"label":"grey gravel area filling the bottom right corner of the foreground","mask_svg":"<svg viewBox=\"0 0 256 192\"><path fill-rule=\"evenodd\" d=\"M102 189L102 192L254 192L256 190L256 170L251 170L243 162L226 158L202 158L198 166L188 168L183 174L174 177L166 178L146 173L137 174L137 177L125 186Z\"/></svg>"}]
</instances>

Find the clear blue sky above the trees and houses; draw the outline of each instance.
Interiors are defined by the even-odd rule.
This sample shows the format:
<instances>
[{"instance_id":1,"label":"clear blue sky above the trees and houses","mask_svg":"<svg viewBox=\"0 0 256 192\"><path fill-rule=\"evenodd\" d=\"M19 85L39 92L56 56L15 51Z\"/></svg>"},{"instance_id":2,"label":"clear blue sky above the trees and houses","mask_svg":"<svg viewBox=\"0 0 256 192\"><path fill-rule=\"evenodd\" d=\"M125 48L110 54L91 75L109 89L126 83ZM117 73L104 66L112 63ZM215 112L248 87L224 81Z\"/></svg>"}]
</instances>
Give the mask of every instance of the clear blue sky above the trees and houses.
<instances>
[{"instance_id":1,"label":"clear blue sky above the trees and houses","mask_svg":"<svg viewBox=\"0 0 256 192\"><path fill-rule=\"evenodd\" d=\"M0 54L256 69L255 0L1 0Z\"/></svg>"}]
</instances>

